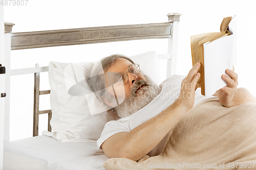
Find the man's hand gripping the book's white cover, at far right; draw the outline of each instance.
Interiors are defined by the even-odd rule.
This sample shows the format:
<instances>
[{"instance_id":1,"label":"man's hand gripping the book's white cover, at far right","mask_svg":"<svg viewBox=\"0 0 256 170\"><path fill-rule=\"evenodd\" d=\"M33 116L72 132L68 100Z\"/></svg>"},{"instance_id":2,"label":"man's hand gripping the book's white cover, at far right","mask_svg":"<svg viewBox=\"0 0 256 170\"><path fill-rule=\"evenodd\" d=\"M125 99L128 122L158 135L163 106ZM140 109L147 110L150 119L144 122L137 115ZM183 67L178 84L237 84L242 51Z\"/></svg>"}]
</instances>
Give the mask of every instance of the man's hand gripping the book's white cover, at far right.
<instances>
[{"instance_id":1,"label":"man's hand gripping the book's white cover, at far right","mask_svg":"<svg viewBox=\"0 0 256 170\"><path fill-rule=\"evenodd\" d=\"M236 72L226 69L226 75L222 75L221 78L227 82L227 85L215 92L214 96L218 96L220 103L225 107L232 107L234 103L234 94L238 87L238 75Z\"/></svg>"}]
</instances>

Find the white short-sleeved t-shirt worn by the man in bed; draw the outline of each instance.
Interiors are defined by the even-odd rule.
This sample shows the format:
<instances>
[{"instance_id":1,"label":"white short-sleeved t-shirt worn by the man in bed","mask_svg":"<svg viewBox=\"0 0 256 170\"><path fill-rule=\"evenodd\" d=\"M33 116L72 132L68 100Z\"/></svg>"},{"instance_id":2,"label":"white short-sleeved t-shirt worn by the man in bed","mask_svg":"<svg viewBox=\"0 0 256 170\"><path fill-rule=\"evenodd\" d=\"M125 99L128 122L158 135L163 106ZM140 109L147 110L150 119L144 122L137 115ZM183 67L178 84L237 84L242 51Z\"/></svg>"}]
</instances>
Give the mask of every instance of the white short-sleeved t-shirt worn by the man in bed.
<instances>
[{"instance_id":1,"label":"white short-sleeved t-shirt worn by the man in bed","mask_svg":"<svg viewBox=\"0 0 256 170\"><path fill-rule=\"evenodd\" d=\"M146 120L151 119L152 117L161 113L168 106L172 105L180 94L181 82L184 78L185 76L178 75L173 75L167 78L163 83L160 84L160 94L157 95L157 97L154 100L152 100L148 105L146 105L141 110L130 116L120 118L118 120L112 120L106 123L100 135L100 138L97 140L98 147L101 148L101 144L110 136L119 132L130 132L137 126L146 122ZM200 102L211 99L218 98L216 96L205 97L204 95L201 95L201 88L198 88L196 90L194 106ZM162 139L162 141L156 146L156 148L154 148L147 155L159 155L163 149L163 145L165 143L166 138L167 134Z\"/></svg>"}]
</instances>

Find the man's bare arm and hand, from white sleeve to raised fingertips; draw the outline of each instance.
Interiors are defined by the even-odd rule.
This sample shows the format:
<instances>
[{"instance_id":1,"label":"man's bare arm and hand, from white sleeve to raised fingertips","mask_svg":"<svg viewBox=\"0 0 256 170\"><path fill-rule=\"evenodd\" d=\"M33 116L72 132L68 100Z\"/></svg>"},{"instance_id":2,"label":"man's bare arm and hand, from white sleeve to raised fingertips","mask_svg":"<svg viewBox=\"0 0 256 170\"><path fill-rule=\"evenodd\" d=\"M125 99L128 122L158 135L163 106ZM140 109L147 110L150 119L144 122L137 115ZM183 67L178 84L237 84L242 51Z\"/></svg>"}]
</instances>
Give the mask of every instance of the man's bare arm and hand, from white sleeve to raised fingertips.
<instances>
[{"instance_id":1,"label":"man's bare arm and hand, from white sleeve to raised fingertips","mask_svg":"<svg viewBox=\"0 0 256 170\"><path fill-rule=\"evenodd\" d=\"M106 156L139 160L153 150L184 114L194 106L195 88L200 78L199 68L200 63L196 64L182 81L180 96L174 104L132 131L120 132L106 139L101 145Z\"/></svg>"}]
</instances>

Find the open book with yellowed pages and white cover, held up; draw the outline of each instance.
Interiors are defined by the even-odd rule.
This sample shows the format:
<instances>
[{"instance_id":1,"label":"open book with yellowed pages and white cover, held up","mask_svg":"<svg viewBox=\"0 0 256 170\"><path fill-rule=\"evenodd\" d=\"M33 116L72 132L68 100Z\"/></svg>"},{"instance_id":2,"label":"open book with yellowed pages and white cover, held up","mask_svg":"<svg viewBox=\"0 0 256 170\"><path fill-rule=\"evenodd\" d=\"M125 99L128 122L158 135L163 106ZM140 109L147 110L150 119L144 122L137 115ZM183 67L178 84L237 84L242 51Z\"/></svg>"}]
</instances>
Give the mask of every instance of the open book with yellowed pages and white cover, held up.
<instances>
[{"instance_id":1,"label":"open book with yellowed pages and white cover, held up","mask_svg":"<svg viewBox=\"0 0 256 170\"><path fill-rule=\"evenodd\" d=\"M193 65L201 63L198 87L205 96L227 85L221 75L236 64L236 16L224 18L220 31L190 37Z\"/></svg>"}]
</instances>

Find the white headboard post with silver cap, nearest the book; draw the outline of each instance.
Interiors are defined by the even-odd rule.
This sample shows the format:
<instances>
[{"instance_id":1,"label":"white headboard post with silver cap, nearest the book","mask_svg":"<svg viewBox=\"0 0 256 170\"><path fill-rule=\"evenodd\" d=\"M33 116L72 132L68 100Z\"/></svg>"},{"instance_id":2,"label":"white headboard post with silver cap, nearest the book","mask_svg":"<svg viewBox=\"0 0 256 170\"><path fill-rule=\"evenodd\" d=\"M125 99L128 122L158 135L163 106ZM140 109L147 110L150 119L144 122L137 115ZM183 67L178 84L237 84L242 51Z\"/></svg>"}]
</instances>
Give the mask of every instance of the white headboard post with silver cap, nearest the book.
<instances>
[{"instance_id":1,"label":"white headboard post with silver cap, nearest the book","mask_svg":"<svg viewBox=\"0 0 256 170\"><path fill-rule=\"evenodd\" d=\"M170 34L172 35L168 41L168 54L171 55L170 59L167 59L167 73L166 78L176 74L177 64L177 47L178 47L178 26L180 21L180 13L167 14L168 21L171 22L172 28Z\"/></svg>"}]
</instances>

